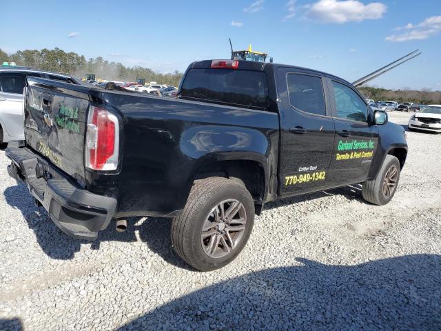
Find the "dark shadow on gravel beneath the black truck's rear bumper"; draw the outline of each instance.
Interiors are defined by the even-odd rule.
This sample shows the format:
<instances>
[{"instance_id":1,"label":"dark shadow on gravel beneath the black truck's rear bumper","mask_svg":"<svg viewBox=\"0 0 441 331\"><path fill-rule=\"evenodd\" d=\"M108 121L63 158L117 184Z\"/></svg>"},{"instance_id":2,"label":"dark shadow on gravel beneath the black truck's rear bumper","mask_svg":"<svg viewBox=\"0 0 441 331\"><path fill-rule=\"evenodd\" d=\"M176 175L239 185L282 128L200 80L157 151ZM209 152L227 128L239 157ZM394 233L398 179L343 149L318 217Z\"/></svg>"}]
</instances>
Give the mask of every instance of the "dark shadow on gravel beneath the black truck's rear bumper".
<instances>
[{"instance_id":1,"label":"dark shadow on gravel beneath the black truck's rear bumper","mask_svg":"<svg viewBox=\"0 0 441 331\"><path fill-rule=\"evenodd\" d=\"M48 213L42 207L34 205L34 200L25 185L16 185L6 188L4 191L6 202L17 208L28 222L29 228L34 231L37 241L45 254L52 259L73 259L75 252L79 252L81 244L88 244L92 250L99 250L103 241L134 242L135 231L139 231L139 238L144 241L150 250L162 257L167 263L180 268L191 269L174 252L170 241L170 219L149 217L139 225L134 225L140 218L127 219L127 231L116 232L114 222L109 227L99 232L95 241L74 239L59 230L49 219ZM1 330L1 329L0 329Z\"/></svg>"}]
</instances>

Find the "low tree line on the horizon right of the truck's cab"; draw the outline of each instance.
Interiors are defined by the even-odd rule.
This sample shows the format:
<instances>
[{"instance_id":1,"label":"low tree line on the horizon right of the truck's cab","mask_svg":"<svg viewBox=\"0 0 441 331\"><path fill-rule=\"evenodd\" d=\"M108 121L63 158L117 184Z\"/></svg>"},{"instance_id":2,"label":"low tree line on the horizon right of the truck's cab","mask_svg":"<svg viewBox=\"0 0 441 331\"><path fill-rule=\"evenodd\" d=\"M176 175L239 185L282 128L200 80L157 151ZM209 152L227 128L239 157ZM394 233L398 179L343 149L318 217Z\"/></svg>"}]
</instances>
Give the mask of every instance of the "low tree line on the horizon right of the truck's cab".
<instances>
[{"instance_id":1,"label":"low tree line on the horizon right of the truck's cab","mask_svg":"<svg viewBox=\"0 0 441 331\"><path fill-rule=\"evenodd\" d=\"M422 90L411 90L410 88L402 88L400 90L387 90L385 88L372 88L363 86L358 88L366 99L413 102L422 105L441 104L441 91L432 91L429 88Z\"/></svg>"}]
</instances>

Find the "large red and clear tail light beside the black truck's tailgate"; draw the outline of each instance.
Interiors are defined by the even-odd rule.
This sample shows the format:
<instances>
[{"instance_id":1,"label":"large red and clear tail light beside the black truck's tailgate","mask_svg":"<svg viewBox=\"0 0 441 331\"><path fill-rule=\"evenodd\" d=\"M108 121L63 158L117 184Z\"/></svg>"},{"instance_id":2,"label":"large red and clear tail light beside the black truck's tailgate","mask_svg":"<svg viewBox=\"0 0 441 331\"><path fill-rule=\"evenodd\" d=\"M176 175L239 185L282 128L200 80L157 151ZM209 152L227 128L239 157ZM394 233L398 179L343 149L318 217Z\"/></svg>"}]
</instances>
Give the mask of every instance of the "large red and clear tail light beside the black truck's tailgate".
<instances>
[{"instance_id":1,"label":"large red and clear tail light beside the black truck's tailgate","mask_svg":"<svg viewBox=\"0 0 441 331\"><path fill-rule=\"evenodd\" d=\"M119 157L118 118L105 109L90 106L85 134L85 166L116 170Z\"/></svg>"}]
</instances>

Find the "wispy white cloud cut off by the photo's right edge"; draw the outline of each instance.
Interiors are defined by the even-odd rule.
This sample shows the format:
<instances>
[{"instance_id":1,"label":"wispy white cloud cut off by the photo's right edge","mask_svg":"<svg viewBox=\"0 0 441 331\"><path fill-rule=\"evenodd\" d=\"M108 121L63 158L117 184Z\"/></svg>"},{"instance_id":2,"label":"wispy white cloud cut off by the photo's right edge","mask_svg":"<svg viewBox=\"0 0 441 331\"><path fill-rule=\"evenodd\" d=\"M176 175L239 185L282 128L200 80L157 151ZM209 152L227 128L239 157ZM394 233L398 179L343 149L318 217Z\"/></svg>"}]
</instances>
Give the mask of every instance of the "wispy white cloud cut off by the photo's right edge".
<instances>
[{"instance_id":1,"label":"wispy white cloud cut off by the photo's right edge","mask_svg":"<svg viewBox=\"0 0 441 331\"><path fill-rule=\"evenodd\" d=\"M427 39L441 32L441 15L428 17L418 24L408 23L405 26L400 26L393 30L406 30L407 32L403 32L401 34L391 34L390 36L386 37L387 41L402 42Z\"/></svg>"}]
</instances>

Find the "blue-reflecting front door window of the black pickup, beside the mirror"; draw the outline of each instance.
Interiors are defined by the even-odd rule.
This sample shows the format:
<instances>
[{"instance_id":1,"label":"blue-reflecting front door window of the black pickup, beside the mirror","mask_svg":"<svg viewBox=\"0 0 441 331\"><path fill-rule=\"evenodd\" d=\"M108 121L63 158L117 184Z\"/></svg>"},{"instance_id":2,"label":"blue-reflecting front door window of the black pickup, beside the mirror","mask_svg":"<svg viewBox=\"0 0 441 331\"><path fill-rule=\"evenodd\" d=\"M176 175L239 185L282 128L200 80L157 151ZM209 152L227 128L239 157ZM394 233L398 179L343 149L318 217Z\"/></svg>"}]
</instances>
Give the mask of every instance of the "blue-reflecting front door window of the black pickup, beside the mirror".
<instances>
[{"instance_id":1,"label":"blue-reflecting front door window of the black pickup, beside the mirror","mask_svg":"<svg viewBox=\"0 0 441 331\"><path fill-rule=\"evenodd\" d=\"M337 117L351 121L367 122L367 106L351 88L332 81L336 98Z\"/></svg>"}]
</instances>

